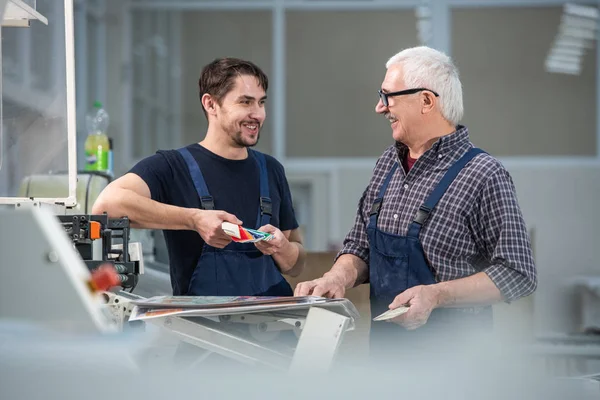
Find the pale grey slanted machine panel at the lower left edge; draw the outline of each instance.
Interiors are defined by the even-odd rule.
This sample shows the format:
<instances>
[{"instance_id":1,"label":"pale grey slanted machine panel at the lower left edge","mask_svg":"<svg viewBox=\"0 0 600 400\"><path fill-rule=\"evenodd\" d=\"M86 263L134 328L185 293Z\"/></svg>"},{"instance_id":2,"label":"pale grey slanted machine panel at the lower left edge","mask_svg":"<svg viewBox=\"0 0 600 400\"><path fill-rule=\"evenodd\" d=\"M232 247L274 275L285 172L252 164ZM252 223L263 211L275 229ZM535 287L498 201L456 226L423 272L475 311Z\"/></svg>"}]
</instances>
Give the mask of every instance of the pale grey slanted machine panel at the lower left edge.
<instances>
[{"instance_id":1,"label":"pale grey slanted machine panel at the lower left edge","mask_svg":"<svg viewBox=\"0 0 600 400\"><path fill-rule=\"evenodd\" d=\"M54 214L39 207L0 209L0 221L0 319L116 332L101 293L89 287L88 268Z\"/></svg>"}]
</instances>

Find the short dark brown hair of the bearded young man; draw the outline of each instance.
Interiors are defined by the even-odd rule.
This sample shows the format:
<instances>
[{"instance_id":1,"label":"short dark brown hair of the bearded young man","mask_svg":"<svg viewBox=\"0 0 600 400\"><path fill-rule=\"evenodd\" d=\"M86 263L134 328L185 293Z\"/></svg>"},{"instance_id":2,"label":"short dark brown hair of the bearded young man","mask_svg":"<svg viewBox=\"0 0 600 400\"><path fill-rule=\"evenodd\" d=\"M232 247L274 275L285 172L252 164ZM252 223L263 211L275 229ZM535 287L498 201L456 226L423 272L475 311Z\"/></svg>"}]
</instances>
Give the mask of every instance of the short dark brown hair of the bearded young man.
<instances>
[{"instance_id":1,"label":"short dark brown hair of the bearded young man","mask_svg":"<svg viewBox=\"0 0 600 400\"><path fill-rule=\"evenodd\" d=\"M266 92L269 87L267 75L251 61L239 58L217 58L206 65L200 73L198 80L198 94L200 102L204 94L210 94L221 105L221 100L233 88L235 78L240 75L254 76L260 87ZM204 116L206 110L202 108Z\"/></svg>"}]
</instances>

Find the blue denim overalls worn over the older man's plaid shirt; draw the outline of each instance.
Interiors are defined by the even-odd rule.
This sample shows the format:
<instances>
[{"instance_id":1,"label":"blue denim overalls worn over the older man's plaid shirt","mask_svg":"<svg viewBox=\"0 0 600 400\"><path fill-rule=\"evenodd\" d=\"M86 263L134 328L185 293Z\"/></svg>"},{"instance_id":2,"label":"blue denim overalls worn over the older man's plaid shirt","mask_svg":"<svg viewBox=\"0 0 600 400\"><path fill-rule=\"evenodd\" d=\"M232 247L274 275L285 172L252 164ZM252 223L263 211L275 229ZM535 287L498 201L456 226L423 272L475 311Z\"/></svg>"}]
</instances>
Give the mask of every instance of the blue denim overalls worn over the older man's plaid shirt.
<instances>
[{"instance_id":1,"label":"blue denim overalls worn over the older man's plaid shirt","mask_svg":"<svg viewBox=\"0 0 600 400\"><path fill-rule=\"evenodd\" d=\"M394 298L413 286L431 285L436 283L436 278L429 267L423 246L419 240L421 228L438 201L442 198L448 187L452 184L462 168L484 151L477 148L469 150L462 158L456 161L431 192L424 204L419 208L415 219L408 227L406 236L383 232L377 228L377 218L381 203L384 199L388 184L398 167L398 163L388 173L379 195L371 208L367 235L369 239L369 280L372 318L387 311ZM375 356L389 356L394 348L404 350L414 346L416 341L434 339L440 334L452 335L453 328L463 329L469 324L491 327L491 308L487 307L482 312L473 314L465 311L438 308L433 310L427 323L416 330L405 328L390 322L371 322L370 346L371 354ZM431 345L433 342L427 342ZM439 343L439 342L438 342ZM443 346L443 343L440 344Z\"/></svg>"}]
</instances>

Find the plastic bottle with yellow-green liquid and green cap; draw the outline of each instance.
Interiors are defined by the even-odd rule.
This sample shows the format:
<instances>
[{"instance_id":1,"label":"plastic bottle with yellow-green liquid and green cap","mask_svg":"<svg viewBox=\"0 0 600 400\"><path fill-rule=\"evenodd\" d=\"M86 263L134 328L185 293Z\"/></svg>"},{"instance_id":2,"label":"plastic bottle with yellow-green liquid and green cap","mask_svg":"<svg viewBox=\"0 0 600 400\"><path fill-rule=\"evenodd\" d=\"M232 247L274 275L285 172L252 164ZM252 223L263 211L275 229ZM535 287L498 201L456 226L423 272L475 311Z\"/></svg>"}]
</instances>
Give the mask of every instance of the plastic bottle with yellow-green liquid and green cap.
<instances>
[{"instance_id":1,"label":"plastic bottle with yellow-green liquid and green cap","mask_svg":"<svg viewBox=\"0 0 600 400\"><path fill-rule=\"evenodd\" d=\"M85 170L108 171L108 113L102 103L96 101L93 110L86 117L88 137L85 140Z\"/></svg>"}]
</instances>

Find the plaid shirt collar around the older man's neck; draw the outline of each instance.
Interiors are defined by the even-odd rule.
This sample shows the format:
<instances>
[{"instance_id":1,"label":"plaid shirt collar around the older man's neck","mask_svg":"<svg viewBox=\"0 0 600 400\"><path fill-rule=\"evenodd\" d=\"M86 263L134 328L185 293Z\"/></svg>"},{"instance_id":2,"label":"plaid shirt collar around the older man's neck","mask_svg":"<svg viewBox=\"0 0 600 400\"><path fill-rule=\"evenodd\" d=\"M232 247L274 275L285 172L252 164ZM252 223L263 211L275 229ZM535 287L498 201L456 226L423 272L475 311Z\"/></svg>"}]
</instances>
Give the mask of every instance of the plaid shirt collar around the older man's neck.
<instances>
[{"instance_id":1,"label":"plaid shirt collar around the older man's neck","mask_svg":"<svg viewBox=\"0 0 600 400\"><path fill-rule=\"evenodd\" d=\"M469 130L466 126L458 125L454 132L439 138L429 150L423 153L411 172L414 169L414 175L418 175L423 170L431 168L448 169L471 147L473 145L469 140ZM408 147L405 144L396 142L396 152L400 162L406 157L407 151Z\"/></svg>"}]
</instances>

